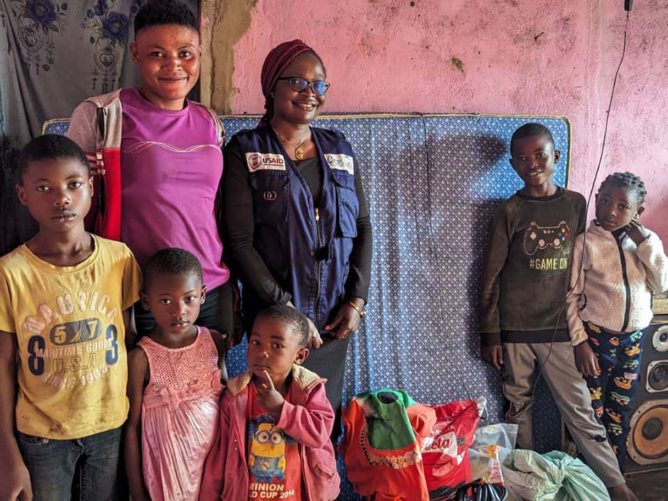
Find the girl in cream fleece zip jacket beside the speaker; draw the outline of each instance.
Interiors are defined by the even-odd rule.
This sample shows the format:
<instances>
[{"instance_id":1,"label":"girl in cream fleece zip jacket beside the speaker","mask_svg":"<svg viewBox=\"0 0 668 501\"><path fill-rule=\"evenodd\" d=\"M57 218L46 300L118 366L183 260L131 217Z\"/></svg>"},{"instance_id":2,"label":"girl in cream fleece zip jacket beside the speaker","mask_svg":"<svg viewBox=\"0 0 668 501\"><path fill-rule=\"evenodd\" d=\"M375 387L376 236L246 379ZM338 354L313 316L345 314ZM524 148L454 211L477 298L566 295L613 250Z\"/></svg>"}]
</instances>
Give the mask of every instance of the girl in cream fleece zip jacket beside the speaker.
<instances>
[{"instance_id":1,"label":"girl in cream fleece zip jacket beside the speaker","mask_svg":"<svg viewBox=\"0 0 668 501\"><path fill-rule=\"evenodd\" d=\"M631 173L614 173L603 181L596 194L596 219L575 239L573 292L566 302L575 363L587 379L620 469L639 381L643 329L653 316L652 292L668 289L663 244L637 222L645 194L643 182Z\"/></svg>"}]
</instances>

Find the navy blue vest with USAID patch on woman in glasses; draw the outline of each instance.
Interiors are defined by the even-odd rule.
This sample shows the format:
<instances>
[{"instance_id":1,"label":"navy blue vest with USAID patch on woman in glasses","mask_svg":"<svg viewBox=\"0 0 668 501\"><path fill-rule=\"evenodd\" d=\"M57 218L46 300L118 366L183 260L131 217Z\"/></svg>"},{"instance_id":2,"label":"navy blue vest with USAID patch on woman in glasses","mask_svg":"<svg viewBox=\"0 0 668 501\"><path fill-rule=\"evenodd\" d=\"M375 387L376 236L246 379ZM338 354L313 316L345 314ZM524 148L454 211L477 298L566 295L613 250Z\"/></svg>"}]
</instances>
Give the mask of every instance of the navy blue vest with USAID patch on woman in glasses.
<instances>
[{"instance_id":1,"label":"navy blue vest with USAID patch on woman in glasses","mask_svg":"<svg viewBox=\"0 0 668 501\"><path fill-rule=\"evenodd\" d=\"M296 308L322 328L344 299L360 206L350 143L340 132L311 132L324 174L318 207L271 127L237 137L253 188L255 250ZM265 305L248 289L244 310L254 317Z\"/></svg>"}]
</instances>

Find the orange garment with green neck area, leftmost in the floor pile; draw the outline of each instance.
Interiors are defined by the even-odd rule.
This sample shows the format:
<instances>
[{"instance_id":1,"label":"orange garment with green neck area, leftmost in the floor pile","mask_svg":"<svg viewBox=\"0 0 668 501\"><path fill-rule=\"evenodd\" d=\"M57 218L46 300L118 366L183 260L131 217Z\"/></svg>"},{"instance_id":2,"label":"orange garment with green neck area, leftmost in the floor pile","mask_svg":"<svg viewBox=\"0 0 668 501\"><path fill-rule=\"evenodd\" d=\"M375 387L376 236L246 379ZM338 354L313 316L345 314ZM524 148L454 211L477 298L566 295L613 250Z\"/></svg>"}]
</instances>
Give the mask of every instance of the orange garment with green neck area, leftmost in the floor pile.
<instances>
[{"instance_id":1,"label":"orange garment with green neck area, leftmost in the floor pile","mask_svg":"<svg viewBox=\"0 0 668 501\"><path fill-rule=\"evenodd\" d=\"M436 422L434 409L401 390L356 395L344 408L340 445L348 479L378 501L428 501L422 440Z\"/></svg>"}]
</instances>

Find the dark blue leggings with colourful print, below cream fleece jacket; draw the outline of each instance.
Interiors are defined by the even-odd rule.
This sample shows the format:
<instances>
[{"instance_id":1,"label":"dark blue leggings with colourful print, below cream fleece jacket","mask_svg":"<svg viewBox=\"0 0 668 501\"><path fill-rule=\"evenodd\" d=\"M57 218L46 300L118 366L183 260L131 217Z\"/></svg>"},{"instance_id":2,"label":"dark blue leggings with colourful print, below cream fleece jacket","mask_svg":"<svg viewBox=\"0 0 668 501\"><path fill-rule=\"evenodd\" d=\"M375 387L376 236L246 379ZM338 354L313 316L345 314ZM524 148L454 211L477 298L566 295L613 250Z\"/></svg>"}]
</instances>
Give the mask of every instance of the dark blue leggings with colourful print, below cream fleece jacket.
<instances>
[{"instance_id":1,"label":"dark blue leggings with colourful print, below cream fleece jacket","mask_svg":"<svg viewBox=\"0 0 668 501\"><path fill-rule=\"evenodd\" d=\"M601 376L587 377L591 404L623 472L633 394L638 386L643 331L615 334L584 322Z\"/></svg>"}]
</instances>

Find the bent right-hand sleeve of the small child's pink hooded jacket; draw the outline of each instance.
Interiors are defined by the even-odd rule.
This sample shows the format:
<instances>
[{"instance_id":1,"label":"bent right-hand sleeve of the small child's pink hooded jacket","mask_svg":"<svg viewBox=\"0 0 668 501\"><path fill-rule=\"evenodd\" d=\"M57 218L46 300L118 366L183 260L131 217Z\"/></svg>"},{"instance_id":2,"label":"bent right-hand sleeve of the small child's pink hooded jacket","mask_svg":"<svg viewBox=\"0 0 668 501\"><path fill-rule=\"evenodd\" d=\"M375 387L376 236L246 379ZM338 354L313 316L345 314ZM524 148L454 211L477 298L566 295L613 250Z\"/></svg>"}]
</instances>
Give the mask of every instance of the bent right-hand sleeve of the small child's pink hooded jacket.
<instances>
[{"instance_id":1,"label":"bent right-hand sleeve of the small child's pink hooded jacket","mask_svg":"<svg viewBox=\"0 0 668 501\"><path fill-rule=\"evenodd\" d=\"M324 383L310 392L305 405L285 401L276 426L306 447L321 449L334 426L334 411L327 399Z\"/></svg>"}]
</instances>

